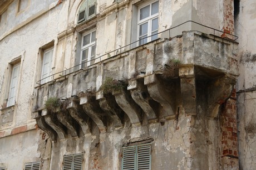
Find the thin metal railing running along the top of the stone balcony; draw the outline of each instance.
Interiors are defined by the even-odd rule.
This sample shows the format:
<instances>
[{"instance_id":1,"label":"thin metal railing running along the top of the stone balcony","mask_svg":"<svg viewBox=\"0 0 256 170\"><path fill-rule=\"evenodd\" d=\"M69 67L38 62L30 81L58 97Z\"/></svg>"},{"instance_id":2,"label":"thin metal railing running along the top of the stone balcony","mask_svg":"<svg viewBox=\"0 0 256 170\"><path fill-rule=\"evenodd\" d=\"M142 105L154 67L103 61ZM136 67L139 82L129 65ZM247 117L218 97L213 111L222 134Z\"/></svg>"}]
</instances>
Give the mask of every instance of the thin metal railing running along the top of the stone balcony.
<instances>
[{"instance_id":1,"label":"thin metal railing running along the top of the stone balcony","mask_svg":"<svg viewBox=\"0 0 256 170\"><path fill-rule=\"evenodd\" d=\"M71 74L71 73L73 73L73 72L75 72L75 71L78 71L78 70L85 70L85 68L81 68L81 67L82 67L82 65L87 64L88 62L93 61L93 64L92 64L92 65L97 64L97 63L99 63L100 61L102 61L102 58L104 58L105 56L107 56L107 58L111 58L111 57L115 56L115 55L111 56L112 53L121 54L121 53L122 53L122 49L124 50L126 47L129 47L129 46L134 45L134 44L136 45L137 43L141 42L141 40L142 40L142 43L141 43L141 44L144 45L144 44L145 44L145 43L144 43L144 40L147 39L147 38L150 38L150 37L152 37L152 36L154 36L154 35L158 35L158 34L161 34L161 33L168 32L168 33L169 33L169 38L170 38L170 37L171 37L171 30L172 30L172 29L178 28L178 27L180 27L181 25L184 25L184 24L189 23L189 22L190 22L190 23L195 23L195 24L197 24L197 25L200 25L201 27L209 28L209 29L213 30L213 35L214 35L214 37L215 37L215 32L219 32L219 33L223 33L223 34L228 34L228 35L230 35L231 37L233 37L233 39L230 39L230 40L235 41L235 40L238 39L238 37L237 37L236 35L233 35L233 34L230 34L230 33L227 33L227 32L223 32L223 31L218 30L218 29L215 29L215 28L208 27L208 26L206 26L206 25L203 25L203 24L194 22L193 20L188 20L188 21L186 21L186 22L184 22L184 23L181 23L181 24L179 24L179 25L176 25L175 27L171 27L171 28L169 28L169 29L166 29L166 30L164 30L163 32L159 32L159 33L157 33L157 34L150 35L150 36L145 37L145 38L143 38L143 39L136 40L135 42L132 42L132 43L130 43L130 44L128 44L128 45L125 45L125 46L123 46L123 47L120 47L120 48L117 48L117 49L115 49L115 50L112 50L112 51L110 51L109 53L100 55L100 56L98 56L97 58L94 58L94 59L92 59L92 60L88 60L88 61L86 61L86 62L82 62L82 63L80 63L80 64L78 64L78 65L72 66L72 67L69 68L69 69L66 69L66 70L60 71L60 72L58 72L58 73L52 74L52 75L50 75L50 76L47 76L46 78L37 81L37 84L41 85L41 82L43 82L43 83L48 83L48 82L50 82L50 81L43 81L43 80L55 81L57 78L60 78L60 77L62 77L62 76L65 76L65 78L66 78L66 76L67 76L68 74ZM146 42L146 43L147 43L147 42ZM148 43L150 43L150 42L148 42ZM141 45L139 45L139 46L141 46ZM136 46L136 47L139 47L139 46ZM131 49L132 49L132 48L131 48ZM129 50L130 50L130 49L129 49ZM125 52L125 51L123 51L123 52ZM95 63L95 61L98 60L98 59L99 59L99 61L98 61L97 63ZM55 79L55 76L57 76L56 79Z\"/></svg>"}]
</instances>

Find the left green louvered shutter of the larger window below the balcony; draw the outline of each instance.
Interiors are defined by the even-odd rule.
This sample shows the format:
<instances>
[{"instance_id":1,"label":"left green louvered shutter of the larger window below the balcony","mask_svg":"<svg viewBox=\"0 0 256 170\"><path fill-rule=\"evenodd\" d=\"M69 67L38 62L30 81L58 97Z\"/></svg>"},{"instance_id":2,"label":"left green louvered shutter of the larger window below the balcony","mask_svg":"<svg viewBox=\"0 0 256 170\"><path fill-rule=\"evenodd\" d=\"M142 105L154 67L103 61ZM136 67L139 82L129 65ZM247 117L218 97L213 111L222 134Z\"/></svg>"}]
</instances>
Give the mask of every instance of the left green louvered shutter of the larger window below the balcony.
<instances>
[{"instance_id":1,"label":"left green louvered shutter of the larger window below the balcony","mask_svg":"<svg viewBox=\"0 0 256 170\"><path fill-rule=\"evenodd\" d=\"M122 169L136 169L136 146L124 147L122 150Z\"/></svg>"}]
</instances>

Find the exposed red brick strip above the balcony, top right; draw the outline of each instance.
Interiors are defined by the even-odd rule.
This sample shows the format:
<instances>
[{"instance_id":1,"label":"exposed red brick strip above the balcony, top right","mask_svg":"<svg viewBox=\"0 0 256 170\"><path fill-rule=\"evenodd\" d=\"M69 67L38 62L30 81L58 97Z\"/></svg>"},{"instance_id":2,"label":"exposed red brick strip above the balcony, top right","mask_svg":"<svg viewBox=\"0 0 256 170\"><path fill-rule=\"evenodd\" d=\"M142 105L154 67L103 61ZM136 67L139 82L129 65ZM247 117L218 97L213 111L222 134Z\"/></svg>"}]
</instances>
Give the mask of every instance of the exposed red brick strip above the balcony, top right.
<instances>
[{"instance_id":1,"label":"exposed red brick strip above the balcony, top right","mask_svg":"<svg viewBox=\"0 0 256 170\"><path fill-rule=\"evenodd\" d=\"M223 33L221 37L229 38L229 39L234 39L232 35L229 34L234 34L234 2L233 0L223 0ZM229 34L226 34L229 33Z\"/></svg>"}]
</instances>

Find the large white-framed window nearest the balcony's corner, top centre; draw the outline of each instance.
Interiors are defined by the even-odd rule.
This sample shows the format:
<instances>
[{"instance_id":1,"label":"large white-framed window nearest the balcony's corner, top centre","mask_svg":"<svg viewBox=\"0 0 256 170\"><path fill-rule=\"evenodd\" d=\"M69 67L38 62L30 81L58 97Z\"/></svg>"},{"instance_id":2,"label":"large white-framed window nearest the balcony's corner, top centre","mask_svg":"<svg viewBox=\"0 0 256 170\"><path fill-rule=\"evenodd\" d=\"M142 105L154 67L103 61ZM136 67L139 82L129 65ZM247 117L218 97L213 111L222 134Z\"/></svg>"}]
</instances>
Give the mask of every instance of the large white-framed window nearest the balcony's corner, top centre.
<instances>
[{"instance_id":1,"label":"large white-framed window nearest the balcony's corner, top centre","mask_svg":"<svg viewBox=\"0 0 256 170\"><path fill-rule=\"evenodd\" d=\"M138 8L137 35L139 35L139 45L157 39L157 35L155 34L158 33L158 11L158 1Z\"/></svg>"}]
</instances>

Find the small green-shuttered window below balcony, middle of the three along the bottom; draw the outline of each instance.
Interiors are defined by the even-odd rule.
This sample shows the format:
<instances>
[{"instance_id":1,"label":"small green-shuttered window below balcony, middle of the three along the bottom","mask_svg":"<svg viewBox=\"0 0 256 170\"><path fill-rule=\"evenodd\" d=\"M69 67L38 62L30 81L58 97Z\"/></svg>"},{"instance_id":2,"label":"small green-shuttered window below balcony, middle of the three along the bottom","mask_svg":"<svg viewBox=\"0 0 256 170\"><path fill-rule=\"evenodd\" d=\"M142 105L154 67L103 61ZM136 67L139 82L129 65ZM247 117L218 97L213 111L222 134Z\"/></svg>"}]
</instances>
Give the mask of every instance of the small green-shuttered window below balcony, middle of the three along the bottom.
<instances>
[{"instance_id":1,"label":"small green-shuttered window below balcony, middle of the three along the bottom","mask_svg":"<svg viewBox=\"0 0 256 170\"><path fill-rule=\"evenodd\" d=\"M66 155L63 159L63 170L82 170L83 154Z\"/></svg>"}]
</instances>

